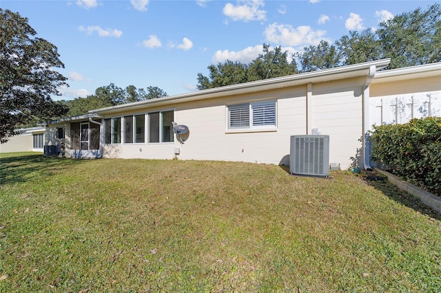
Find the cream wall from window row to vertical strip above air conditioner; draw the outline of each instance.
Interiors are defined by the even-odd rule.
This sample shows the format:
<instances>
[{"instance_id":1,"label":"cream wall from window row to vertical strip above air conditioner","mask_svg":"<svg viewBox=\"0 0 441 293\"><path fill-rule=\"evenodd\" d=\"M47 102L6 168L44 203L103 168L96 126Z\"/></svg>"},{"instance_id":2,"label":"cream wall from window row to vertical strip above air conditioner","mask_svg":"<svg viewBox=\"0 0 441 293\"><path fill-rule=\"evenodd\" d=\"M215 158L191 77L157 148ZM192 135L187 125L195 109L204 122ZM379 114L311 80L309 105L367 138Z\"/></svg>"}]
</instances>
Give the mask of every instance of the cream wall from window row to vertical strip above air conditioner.
<instances>
[{"instance_id":1,"label":"cream wall from window row to vertical strip above air conditioner","mask_svg":"<svg viewBox=\"0 0 441 293\"><path fill-rule=\"evenodd\" d=\"M104 158L173 159L175 148L180 149L180 160L229 160L268 164L289 163L289 138L294 134L305 134L305 88L298 87L280 91L277 95L230 96L186 102L174 108L174 121L189 128L185 144L175 142L142 144L107 144L103 147ZM276 131L237 132L227 130L227 105L262 99L276 99ZM167 111L170 108L149 109L145 112ZM118 115L117 117L119 117ZM106 118L115 117L109 116ZM146 119L146 129L148 129ZM122 134L123 136L123 134Z\"/></svg>"}]
</instances>

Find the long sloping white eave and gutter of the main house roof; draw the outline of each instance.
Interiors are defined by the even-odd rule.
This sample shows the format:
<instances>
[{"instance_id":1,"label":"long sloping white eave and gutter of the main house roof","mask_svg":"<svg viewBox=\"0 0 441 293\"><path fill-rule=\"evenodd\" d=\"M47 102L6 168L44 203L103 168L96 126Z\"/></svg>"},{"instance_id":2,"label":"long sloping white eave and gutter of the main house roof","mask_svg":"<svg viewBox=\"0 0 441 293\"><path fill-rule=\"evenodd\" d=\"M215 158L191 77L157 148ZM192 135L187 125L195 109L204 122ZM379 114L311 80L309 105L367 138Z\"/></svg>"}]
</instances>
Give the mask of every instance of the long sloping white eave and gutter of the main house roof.
<instances>
[{"instance_id":1,"label":"long sloping white eave and gutter of the main house roof","mask_svg":"<svg viewBox=\"0 0 441 293\"><path fill-rule=\"evenodd\" d=\"M360 76L369 76L371 67L375 67L376 71L384 69L389 65L391 59L382 59L366 63L358 63L331 69L318 70L316 72L306 72L302 74L294 74L289 76L281 76L269 78L265 80L257 80L249 83L240 83L237 85L227 85L225 87L216 87L213 89L204 89L187 94L179 94L176 96L167 96L163 98L155 98L151 100L143 100L140 102L132 102L129 104L116 105L101 109L94 109L90 113L98 113L100 115L116 113L124 110L136 110L145 107L161 107L165 105L176 104L177 102L188 102L194 100L205 100L209 98L218 98L222 96L234 96L237 94L249 94L257 91L267 91L271 89L281 89L285 87L295 87L298 85L306 85L308 83L324 83L333 80L342 80L347 78L356 78Z\"/></svg>"}]
</instances>

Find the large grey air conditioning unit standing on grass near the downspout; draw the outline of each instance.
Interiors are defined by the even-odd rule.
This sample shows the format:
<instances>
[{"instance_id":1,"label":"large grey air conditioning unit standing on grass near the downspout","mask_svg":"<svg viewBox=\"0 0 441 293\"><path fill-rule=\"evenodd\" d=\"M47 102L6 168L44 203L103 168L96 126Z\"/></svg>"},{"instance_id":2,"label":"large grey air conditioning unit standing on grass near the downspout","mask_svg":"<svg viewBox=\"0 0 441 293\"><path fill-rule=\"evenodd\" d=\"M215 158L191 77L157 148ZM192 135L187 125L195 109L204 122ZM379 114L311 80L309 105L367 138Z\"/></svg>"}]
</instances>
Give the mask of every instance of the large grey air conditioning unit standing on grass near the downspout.
<instances>
[{"instance_id":1,"label":"large grey air conditioning unit standing on grass near the downspout","mask_svg":"<svg viewBox=\"0 0 441 293\"><path fill-rule=\"evenodd\" d=\"M329 135L291 135L289 173L329 175Z\"/></svg>"}]
</instances>

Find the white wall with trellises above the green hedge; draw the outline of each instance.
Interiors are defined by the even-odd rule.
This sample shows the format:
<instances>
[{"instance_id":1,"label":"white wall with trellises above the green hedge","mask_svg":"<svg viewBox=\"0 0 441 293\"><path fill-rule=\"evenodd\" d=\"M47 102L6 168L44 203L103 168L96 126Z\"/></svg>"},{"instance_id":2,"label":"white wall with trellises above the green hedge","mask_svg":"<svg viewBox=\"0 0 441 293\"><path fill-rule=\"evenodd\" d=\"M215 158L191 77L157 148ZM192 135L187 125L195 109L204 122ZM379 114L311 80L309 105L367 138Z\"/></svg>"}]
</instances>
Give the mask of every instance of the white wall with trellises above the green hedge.
<instances>
[{"instance_id":1,"label":"white wall with trellises above the green hedge","mask_svg":"<svg viewBox=\"0 0 441 293\"><path fill-rule=\"evenodd\" d=\"M371 85L370 124L402 124L412 118L441 116L439 76Z\"/></svg>"}]
</instances>

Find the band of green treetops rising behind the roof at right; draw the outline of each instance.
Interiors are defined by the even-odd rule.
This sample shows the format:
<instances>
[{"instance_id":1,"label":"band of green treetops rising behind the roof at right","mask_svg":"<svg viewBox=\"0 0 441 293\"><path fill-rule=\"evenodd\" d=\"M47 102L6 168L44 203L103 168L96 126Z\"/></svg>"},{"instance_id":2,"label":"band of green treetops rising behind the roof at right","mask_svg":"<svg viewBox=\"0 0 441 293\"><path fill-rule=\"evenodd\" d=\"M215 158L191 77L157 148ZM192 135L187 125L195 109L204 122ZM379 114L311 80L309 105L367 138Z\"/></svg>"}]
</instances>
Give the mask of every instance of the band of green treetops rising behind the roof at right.
<instances>
[{"instance_id":1,"label":"band of green treetops rising behind the roof at right","mask_svg":"<svg viewBox=\"0 0 441 293\"><path fill-rule=\"evenodd\" d=\"M441 61L441 5L435 3L427 10L417 8L396 15L378 25L351 31L334 43L320 41L304 47L291 56L281 47L269 49L263 44L263 53L249 64L225 61L209 65L209 76L198 74L198 89L209 89L311 72L343 65L351 65L382 58L391 58L387 69L422 65Z\"/></svg>"}]
</instances>

